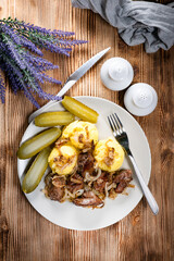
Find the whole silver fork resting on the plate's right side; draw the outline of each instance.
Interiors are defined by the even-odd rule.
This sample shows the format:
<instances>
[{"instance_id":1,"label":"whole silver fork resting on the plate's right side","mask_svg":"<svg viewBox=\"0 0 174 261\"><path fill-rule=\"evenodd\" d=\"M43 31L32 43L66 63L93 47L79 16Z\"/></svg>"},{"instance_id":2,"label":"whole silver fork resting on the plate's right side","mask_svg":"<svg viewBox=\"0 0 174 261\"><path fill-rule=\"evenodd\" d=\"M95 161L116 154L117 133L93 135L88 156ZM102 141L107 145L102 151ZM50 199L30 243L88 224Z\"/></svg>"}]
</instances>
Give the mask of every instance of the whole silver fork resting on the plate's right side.
<instances>
[{"instance_id":1,"label":"whole silver fork resting on the plate's right side","mask_svg":"<svg viewBox=\"0 0 174 261\"><path fill-rule=\"evenodd\" d=\"M123 127L123 124L121 123L121 120L119 119L116 113L113 113L110 116L108 116L108 121L109 121L109 124L112 128L112 132L113 132L113 135L114 135L115 139L119 141L119 144L127 152L127 156L128 156L128 158L129 158L129 160L130 160L130 162L134 166L135 174L136 174L136 176L139 181L142 192L144 192L144 195L145 195L153 214L158 214L158 212L159 212L158 203L157 203L156 199L153 198L152 194L150 192L150 189L146 185L140 171L138 170L138 166L137 166L137 164L135 162L135 159L132 154L132 151L129 149L129 142L128 142L127 134L126 134L126 132Z\"/></svg>"}]
</instances>

